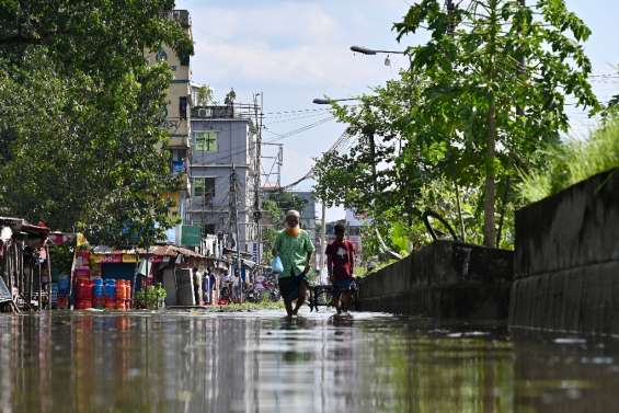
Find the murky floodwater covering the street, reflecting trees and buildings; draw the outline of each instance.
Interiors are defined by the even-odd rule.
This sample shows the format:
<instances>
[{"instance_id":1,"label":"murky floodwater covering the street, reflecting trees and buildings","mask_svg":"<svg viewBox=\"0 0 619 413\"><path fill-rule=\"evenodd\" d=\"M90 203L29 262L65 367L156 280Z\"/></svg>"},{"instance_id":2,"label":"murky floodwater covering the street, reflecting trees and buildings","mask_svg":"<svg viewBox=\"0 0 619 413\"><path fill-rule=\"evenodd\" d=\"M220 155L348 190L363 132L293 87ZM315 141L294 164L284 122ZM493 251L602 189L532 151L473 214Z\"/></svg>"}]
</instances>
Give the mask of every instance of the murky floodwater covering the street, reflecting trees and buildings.
<instances>
[{"instance_id":1,"label":"murky floodwater covering the street, reflecting trees and buildings","mask_svg":"<svg viewBox=\"0 0 619 413\"><path fill-rule=\"evenodd\" d=\"M612 412L619 348L280 311L0 314L0 411Z\"/></svg>"}]
</instances>

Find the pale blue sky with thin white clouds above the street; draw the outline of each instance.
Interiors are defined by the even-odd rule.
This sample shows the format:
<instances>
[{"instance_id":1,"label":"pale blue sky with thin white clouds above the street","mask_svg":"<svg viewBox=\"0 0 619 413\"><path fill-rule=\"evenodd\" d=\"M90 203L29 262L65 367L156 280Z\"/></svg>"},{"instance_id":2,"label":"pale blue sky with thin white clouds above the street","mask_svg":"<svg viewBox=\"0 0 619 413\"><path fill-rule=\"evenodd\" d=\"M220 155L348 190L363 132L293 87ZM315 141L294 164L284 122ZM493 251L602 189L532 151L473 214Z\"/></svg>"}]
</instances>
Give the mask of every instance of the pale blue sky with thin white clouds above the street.
<instances>
[{"instance_id":1,"label":"pale blue sky with thin white clouds above the street","mask_svg":"<svg viewBox=\"0 0 619 413\"><path fill-rule=\"evenodd\" d=\"M312 100L370 93L371 87L396 78L406 64L404 57L394 55L387 67L385 55L358 55L349 47L401 50L423 41L422 36L409 36L399 44L391 30L413 2L176 0L176 8L187 9L192 18L194 82L209 84L220 102L230 88L241 103L250 103L254 93L263 93L263 141L316 124L278 140L284 144L282 184L286 185L305 175L313 159L328 150L345 128L330 119L326 106L312 104ZM617 73L619 1L566 0L566 4L593 31L585 50L594 73ZM617 80L597 79L593 84L601 101L619 92ZM575 136L585 136L594 125L575 110L570 115ZM265 168L270 167L265 162ZM306 181L298 190L311 190L311 185ZM329 209L326 218L343 218L343 209Z\"/></svg>"}]
</instances>

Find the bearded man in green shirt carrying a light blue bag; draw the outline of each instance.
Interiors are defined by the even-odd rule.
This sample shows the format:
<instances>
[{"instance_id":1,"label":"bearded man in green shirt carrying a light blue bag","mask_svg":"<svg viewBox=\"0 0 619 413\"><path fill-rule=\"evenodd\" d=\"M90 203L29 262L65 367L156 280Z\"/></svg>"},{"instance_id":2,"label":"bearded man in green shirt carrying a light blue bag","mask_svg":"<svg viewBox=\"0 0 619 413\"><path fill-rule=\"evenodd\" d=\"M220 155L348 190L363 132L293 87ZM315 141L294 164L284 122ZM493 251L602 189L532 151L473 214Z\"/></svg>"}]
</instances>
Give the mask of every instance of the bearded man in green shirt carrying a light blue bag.
<instances>
[{"instance_id":1,"label":"bearded man in green shirt carrying a light blue bag","mask_svg":"<svg viewBox=\"0 0 619 413\"><path fill-rule=\"evenodd\" d=\"M299 227L299 218L300 215L296 210L286 213L286 229L277 234L273 246L273 255L279 255L284 266L284 272L278 276L278 284L288 318L296 316L306 300L307 275L314 251L310 236Z\"/></svg>"}]
</instances>

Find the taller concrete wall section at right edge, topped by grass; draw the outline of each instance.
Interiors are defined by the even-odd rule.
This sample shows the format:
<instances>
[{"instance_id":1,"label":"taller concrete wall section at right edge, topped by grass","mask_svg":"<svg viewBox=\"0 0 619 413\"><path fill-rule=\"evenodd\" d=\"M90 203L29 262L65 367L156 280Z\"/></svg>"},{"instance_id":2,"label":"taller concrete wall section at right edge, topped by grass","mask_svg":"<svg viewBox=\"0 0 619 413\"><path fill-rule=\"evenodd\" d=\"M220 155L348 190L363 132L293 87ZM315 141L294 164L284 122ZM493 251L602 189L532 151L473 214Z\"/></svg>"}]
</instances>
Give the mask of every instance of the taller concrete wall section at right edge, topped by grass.
<instances>
[{"instance_id":1,"label":"taller concrete wall section at right edge, topped by grass","mask_svg":"<svg viewBox=\"0 0 619 413\"><path fill-rule=\"evenodd\" d=\"M619 170L516 213L512 328L619 334Z\"/></svg>"}]
</instances>

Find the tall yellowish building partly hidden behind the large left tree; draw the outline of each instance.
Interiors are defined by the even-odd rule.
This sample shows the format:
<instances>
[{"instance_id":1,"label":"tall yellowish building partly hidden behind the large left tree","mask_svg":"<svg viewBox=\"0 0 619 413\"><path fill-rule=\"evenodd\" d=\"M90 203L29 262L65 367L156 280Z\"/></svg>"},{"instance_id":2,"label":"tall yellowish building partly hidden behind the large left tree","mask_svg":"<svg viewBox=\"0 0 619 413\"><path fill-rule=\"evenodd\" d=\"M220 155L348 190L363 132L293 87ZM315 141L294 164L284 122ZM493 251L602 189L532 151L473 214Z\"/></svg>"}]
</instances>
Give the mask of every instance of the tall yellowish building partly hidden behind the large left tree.
<instances>
[{"instance_id":1,"label":"tall yellowish building partly hidden behind the large left tree","mask_svg":"<svg viewBox=\"0 0 619 413\"><path fill-rule=\"evenodd\" d=\"M192 37L192 21L187 10L174 10L170 19L176 20ZM162 45L156 53L147 55L150 62L165 61L170 65L174 77L168 88L168 105L165 106L164 127L170 134L168 148L172 152L171 170L181 181L180 191L168 194L174 202L170 214L181 218L182 222L168 231L168 242L181 244L182 227L186 218L187 194L191 190L188 180L188 152L191 136L191 79L190 56L179 56L172 48Z\"/></svg>"}]
</instances>

